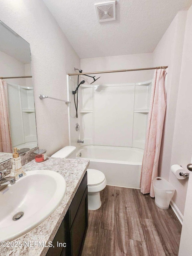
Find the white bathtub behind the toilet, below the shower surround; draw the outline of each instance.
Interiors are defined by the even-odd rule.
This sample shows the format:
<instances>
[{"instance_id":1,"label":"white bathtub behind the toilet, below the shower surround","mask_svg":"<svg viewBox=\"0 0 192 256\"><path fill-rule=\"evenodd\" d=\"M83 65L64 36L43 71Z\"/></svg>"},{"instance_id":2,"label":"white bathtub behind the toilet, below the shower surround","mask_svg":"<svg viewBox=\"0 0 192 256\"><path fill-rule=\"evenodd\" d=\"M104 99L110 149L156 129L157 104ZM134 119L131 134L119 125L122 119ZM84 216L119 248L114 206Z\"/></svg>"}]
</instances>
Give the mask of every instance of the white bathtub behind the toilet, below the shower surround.
<instances>
[{"instance_id":1,"label":"white bathtub behind the toilet, below the shower surround","mask_svg":"<svg viewBox=\"0 0 192 256\"><path fill-rule=\"evenodd\" d=\"M81 156L80 156L81 155ZM139 188L143 149L112 146L82 146L77 159L89 159L90 169L105 174L107 185Z\"/></svg>"}]
</instances>

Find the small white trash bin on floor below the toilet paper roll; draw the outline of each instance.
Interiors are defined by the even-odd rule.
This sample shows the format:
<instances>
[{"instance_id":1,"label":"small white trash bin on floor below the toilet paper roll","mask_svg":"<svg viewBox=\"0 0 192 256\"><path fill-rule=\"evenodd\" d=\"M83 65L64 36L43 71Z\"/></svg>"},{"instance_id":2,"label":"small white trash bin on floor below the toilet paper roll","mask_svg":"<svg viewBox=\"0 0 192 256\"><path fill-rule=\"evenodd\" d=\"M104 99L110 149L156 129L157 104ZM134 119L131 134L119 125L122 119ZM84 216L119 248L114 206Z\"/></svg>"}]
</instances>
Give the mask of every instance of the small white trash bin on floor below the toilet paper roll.
<instances>
[{"instance_id":1,"label":"small white trash bin on floor below the toilet paper roll","mask_svg":"<svg viewBox=\"0 0 192 256\"><path fill-rule=\"evenodd\" d=\"M156 177L153 180L155 204L164 210L169 209L170 201L175 193L175 188L166 179Z\"/></svg>"}]
</instances>

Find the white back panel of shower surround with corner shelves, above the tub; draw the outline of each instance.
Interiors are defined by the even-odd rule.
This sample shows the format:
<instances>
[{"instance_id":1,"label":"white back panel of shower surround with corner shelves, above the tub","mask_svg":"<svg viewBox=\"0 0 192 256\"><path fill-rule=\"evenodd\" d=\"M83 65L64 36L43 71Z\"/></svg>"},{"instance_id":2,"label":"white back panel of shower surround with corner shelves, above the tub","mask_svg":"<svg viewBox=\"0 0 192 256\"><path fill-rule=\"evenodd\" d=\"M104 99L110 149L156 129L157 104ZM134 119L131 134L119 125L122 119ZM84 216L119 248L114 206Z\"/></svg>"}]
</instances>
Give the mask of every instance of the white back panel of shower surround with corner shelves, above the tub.
<instances>
[{"instance_id":1,"label":"white back panel of shower surround with corner shelves, above the tub","mask_svg":"<svg viewBox=\"0 0 192 256\"><path fill-rule=\"evenodd\" d=\"M79 125L83 146L144 149L151 86L152 80L140 83L81 85Z\"/></svg>"}]
</instances>

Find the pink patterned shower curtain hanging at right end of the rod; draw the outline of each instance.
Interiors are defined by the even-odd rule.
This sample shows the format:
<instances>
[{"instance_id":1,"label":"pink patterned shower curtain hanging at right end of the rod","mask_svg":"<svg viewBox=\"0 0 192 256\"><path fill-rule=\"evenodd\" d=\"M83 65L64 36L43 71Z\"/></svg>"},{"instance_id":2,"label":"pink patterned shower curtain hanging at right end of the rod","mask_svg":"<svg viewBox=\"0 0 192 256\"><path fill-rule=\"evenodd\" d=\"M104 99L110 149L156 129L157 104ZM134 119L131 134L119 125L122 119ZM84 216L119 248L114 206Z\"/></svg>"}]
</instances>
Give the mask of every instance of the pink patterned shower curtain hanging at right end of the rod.
<instances>
[{"instance_id":1,"label":"pink patterned shower curtain hanging at right end of the rod","mask_svg":"<svg viewBox=\"0 0 192 256\"><path fill-rule=\"evenodd\" d=\"M141 170L140 187L143 194L154 197L153 179L158 176L158 162L166 109L164 69L156 69L153 77L146 142Z\"/></svg>"}]
</instances>

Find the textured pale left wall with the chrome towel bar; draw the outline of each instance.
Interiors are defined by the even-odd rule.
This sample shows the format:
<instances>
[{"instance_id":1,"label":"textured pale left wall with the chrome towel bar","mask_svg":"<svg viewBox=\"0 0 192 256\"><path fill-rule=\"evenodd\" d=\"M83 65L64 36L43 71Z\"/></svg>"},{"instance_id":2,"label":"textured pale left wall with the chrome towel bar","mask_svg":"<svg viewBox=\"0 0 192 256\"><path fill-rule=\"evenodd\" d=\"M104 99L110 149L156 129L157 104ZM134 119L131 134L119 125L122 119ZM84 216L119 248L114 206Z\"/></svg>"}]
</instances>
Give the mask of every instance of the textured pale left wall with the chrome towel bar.
<instances>
[{"instance_id":1,"label":"textured pale left wall with the chrome towel bar","mask_svg":"<svg viewBox=\"0 0 192 256\"><path fill-rule=\"evenodd\" d=\"M67 99L66 74L80 60L41 0L0 0L1 20L31 49L38 146L51 155L69 144L67 105L39 94Z\"/></svg>"}]
</instances>

